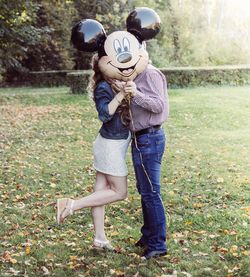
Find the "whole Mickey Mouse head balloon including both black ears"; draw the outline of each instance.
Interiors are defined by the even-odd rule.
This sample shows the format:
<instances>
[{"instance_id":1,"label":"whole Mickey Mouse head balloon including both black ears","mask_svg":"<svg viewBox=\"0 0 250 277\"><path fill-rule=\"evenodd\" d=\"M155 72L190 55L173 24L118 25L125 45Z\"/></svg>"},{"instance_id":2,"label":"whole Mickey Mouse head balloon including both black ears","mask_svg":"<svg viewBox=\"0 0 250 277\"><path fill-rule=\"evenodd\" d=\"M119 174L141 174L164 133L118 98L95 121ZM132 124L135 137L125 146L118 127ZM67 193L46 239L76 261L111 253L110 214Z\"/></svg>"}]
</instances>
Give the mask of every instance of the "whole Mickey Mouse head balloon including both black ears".
<instances>
[{"instance_id":1,"label":"whole Mickey Mouse head balloon including both black ears","mask_svg":"<svg viewBox=\"0 0 250 277\"><path fill-rule=\"evenodd\" d=\"M127 31L116 31L106 37L98 21L87 19L73 27L71 41L80 51L98 51L98 65L106 77L129 81L146 69L148 53L143 41L155 37L159 30L157 13L137 8L127 18Z\"/></svg>"}]
</instances>

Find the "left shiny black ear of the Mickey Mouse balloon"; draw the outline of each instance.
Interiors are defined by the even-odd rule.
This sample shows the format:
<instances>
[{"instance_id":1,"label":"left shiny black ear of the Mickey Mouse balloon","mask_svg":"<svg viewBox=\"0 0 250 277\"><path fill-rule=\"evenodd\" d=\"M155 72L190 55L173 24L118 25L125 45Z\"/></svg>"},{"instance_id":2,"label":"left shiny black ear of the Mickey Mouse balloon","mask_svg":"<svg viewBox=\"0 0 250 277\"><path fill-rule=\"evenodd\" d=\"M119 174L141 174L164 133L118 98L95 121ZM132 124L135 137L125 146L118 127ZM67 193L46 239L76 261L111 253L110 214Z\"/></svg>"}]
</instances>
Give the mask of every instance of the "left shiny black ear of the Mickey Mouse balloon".
<instances>
[{"instance_id":1,"label":"left shiny black ear of the Mickey Mouse balloon","mask_svg":"<svg viewBox=\"0 0 250 277\"><path fill-rule=\"evenodd\" d=\"M102 24L93 19L80 21L71 31L71 42L79 51L95 52L105 39L106 33Z\"/></svg>"}]
</instances>

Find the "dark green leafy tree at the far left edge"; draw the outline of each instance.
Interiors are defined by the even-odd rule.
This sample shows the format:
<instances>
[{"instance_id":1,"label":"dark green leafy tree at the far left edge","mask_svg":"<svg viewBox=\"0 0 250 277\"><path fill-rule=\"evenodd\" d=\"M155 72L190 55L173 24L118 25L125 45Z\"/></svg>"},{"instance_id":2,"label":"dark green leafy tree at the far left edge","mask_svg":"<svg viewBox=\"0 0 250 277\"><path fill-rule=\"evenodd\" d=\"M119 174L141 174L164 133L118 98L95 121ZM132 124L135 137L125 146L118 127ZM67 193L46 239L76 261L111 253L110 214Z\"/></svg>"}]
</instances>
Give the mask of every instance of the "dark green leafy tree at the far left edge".
<instances>
[{"instance_id":1,"label":"dark green leafy tree at the far left edge","mask_svg":"<svg viewBox=\"0 0 250 277\"><path fill-rule=\"evenodd\" d=\"M22 61L29 47L34 47L47 33L35 26L38 6L32 1L0 2L0 70L14 77L23 71Z\"/></svg>"}]
</instances>

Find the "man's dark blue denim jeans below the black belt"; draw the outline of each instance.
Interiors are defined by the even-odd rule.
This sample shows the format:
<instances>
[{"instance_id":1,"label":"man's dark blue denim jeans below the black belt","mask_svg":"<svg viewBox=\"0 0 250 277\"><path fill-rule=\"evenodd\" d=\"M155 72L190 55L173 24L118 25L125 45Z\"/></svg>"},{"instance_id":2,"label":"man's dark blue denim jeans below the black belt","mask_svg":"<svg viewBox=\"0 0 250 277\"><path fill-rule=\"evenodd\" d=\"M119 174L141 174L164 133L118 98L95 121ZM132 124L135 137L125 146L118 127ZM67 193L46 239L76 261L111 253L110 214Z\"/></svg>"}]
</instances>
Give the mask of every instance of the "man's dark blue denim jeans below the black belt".
<instances>
[{"instance_id":1,"label":"man's dark blue denim jeans below the black belt","mask_svg":"<svg viewBox=\"0 0 250 277\"><path fill-rule=\"evenodd\" d=\"M137 147L133 139L132 159L144 220L140 241L147 245L147 251L165 251L166 217L160 194L161 160L165 149L164 130L159 129L137 137Z\"/></svg>"}]
</instances>

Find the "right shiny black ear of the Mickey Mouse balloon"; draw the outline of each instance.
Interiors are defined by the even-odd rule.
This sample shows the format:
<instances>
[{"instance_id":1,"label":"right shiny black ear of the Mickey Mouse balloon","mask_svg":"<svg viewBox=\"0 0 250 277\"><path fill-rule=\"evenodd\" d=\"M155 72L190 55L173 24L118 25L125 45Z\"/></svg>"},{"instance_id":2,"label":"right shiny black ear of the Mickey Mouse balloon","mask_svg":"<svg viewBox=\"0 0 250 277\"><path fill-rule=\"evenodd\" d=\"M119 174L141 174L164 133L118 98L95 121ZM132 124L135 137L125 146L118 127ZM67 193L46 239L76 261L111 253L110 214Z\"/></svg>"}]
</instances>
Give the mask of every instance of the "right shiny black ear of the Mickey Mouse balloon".
<instances>
[{"instance_id":1,"label":"right shiny black ear of the Mickey Mouse balloon","mask_svg":"<svg viewBox=\"0 0 250 277\"><path fill-rule=\"evenodd\" d=\"M136 8L127 18L127 30L140 42L155 37L160 31L161 19L150 8Z\"/></svg>"}]
</instances>

